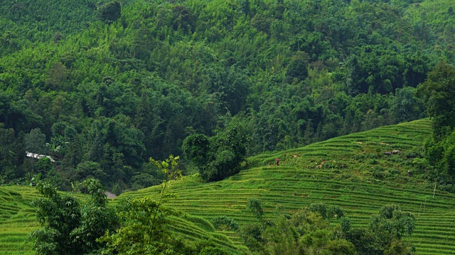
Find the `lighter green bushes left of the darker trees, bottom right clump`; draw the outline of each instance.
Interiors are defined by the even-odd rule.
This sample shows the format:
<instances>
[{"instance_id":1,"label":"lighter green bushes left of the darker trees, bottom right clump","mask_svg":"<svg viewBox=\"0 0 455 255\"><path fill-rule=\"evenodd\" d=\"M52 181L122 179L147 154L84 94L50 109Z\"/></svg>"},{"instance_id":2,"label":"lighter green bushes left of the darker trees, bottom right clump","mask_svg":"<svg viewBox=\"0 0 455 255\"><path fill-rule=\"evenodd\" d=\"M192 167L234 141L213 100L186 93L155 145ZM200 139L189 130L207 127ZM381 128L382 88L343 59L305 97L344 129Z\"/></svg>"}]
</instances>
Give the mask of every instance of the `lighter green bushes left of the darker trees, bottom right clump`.
<instances>
[{"instance_id":1,"label":"lighter green bushes left of the darker trees, bottom right clump","mask_svg":"<svg viewBox=\"0 0 455 255\"><path fill-rule=\"evenodd\" d=\"M313 206L316 207L326 208L326 205ZM309 208L304 208L293 215L278 215L260 224L245 225L240 235L250 250L260 254L313 254L316 251L355 254L351 242L336 237L336 229Z\"/></svg>"}]
</instances>

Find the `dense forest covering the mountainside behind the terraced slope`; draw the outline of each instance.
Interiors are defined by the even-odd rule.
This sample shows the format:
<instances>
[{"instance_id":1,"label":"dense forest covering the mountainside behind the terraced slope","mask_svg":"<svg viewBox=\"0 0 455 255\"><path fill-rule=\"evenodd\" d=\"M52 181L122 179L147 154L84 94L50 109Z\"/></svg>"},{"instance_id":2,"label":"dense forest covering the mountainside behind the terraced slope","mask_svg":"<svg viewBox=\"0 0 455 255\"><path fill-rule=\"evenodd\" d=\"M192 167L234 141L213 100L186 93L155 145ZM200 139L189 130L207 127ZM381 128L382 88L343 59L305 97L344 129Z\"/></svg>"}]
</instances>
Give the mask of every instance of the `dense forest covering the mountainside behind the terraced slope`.
<instances>
[{"instance_id":1,"label":"dense forest covering the mountainside behind the terraced slope","mask_svg":"<svg viewBox=\"0 0 455 255\"><path fill-rule=\"evenodd\" d=\"M121 193L160 183L149 158L183 154L191 135L229 147L232 130L241 130L244 159L433 116L440 109L425 104L433 80L420 95L416 88L441 62L453 73L454 7L450 0L2 1L0 183L41 178L69 190L92 176ZM455 153L440 140L427 146L440 147L434 160ZM196 171L188 159L183 166Z\"/></svg>"}]
</instances>

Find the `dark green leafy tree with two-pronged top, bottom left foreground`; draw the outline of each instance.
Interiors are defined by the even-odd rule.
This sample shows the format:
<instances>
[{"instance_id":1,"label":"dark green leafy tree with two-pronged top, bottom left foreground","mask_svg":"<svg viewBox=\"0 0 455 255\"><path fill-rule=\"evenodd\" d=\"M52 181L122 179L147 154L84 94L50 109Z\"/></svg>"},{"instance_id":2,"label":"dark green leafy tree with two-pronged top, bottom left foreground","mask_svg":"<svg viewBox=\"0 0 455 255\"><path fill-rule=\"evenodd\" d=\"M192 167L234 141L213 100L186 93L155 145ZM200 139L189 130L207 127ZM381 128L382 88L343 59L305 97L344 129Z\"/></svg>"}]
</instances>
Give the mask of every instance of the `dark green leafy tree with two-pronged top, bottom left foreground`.
<instances>
[{"instance_id":1,"label":"dark green leafy tree with two-pronged top, bottom left foreground","mask_svg":"<svg viewBox=\"0 0 455 255\"><path fill-rule=\"evenodd\" d=\"M81 188L90 194L83 204L47 183L38 183L37 187L44 196L33 202L43 226L30 234L37 254L90 254L101 248L96 239L114 229L116 217L107 208L100 181L87 179L81 183Z\"/></svg>"}]
</instances>

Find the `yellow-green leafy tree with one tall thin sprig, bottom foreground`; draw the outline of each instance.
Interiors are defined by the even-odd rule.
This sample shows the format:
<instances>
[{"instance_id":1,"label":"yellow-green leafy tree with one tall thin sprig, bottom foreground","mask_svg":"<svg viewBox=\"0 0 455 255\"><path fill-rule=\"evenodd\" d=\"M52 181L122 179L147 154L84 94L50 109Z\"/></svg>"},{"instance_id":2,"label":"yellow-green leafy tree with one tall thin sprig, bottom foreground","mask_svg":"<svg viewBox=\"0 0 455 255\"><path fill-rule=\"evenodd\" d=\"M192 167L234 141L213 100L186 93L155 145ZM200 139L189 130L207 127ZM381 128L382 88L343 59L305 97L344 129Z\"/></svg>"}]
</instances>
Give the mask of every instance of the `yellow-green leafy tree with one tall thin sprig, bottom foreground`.
<instances>
[{"instance_id":1,"label":"yellow-green leafy tree with one tall thin sprig, bottom foreground","mask_svg":"<svg viewBox=\"0 0 455 255\"><path fill-rule=\"evenodd\" d=\"M166 180L161 184L160 197L129 198L117 206L120 226L114 232L106 232L99 239L106 244L102 254L173 254L172 239L168 232L168 216L179 212L166 208L164 203L171 198L169 180L180 176L178 157L169 156L165 161L155 161Z\"/></svg>"}]
</instances>

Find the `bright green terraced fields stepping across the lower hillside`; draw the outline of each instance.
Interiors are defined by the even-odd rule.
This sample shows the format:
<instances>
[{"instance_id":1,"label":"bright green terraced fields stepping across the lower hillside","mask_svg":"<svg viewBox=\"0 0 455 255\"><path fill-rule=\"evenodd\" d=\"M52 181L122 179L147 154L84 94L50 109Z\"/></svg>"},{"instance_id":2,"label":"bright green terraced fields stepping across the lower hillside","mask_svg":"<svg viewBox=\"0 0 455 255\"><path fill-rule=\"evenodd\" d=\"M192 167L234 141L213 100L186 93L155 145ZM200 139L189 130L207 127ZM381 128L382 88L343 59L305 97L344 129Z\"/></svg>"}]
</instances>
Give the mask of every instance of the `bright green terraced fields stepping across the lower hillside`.
<instances>
[{"instance_id":1,"label":"bright green terraced fields stepping across the lower hillside","mask_svg":"<svg viewBox=\"0 0 455 255\"><path fill-rule=\"evenodd\" d=\"M215 232L210 220L226 215L240 224L255 221L245 211L248 198L262 202L266 217L278 205L289 212L316 202L340 205L354 226L368 224L382 205L394 203L417 217L414 234L407 239L419 254L455 254L455 195L437 189L433 197L434 184L412 165L429 135L429 121L418 120L261 154L248 159L247 169L224 181L201 183L197 175L186 176L171 182L177 198L168 205L187 213L174 219L171 228L182 239L213 239L234 251L245 249L241 239L234 232ZM383 155L394 149L400 149L400 154ZM282 159L279 166L275 158ZM0 254L31 253L24 241L37 227L28 205L36 196L34 188L0 187ZM130 196L158 197L159 188L119 198Z\"/></svg>"}]
</instances>

